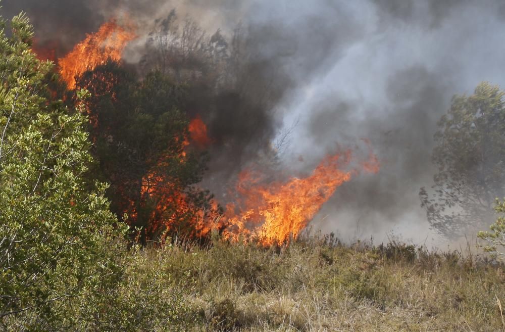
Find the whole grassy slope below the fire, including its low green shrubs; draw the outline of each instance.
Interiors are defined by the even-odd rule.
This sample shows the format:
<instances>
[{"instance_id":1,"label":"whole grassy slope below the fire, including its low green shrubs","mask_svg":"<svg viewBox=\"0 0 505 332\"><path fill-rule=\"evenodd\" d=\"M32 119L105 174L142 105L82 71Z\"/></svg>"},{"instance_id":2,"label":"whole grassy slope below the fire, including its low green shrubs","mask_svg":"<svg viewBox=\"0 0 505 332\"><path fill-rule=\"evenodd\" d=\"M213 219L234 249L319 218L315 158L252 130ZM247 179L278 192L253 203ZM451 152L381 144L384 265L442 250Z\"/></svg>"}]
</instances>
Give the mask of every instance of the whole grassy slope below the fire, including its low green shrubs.
<instances>
[{"instance_id":1,"label":"whole grassy slope below the fire, including its low green shrubs","mask_svg":"<svg viewBox=\"0 0 505 332\"><path fill-rule=\"evenodd\" d=\"M504 267L485 256L309 237L269 249L215 238L111 257L121 270L55 305L63 320L27 311L0 330L505 330Z\"/></svg>"}]
</instances>

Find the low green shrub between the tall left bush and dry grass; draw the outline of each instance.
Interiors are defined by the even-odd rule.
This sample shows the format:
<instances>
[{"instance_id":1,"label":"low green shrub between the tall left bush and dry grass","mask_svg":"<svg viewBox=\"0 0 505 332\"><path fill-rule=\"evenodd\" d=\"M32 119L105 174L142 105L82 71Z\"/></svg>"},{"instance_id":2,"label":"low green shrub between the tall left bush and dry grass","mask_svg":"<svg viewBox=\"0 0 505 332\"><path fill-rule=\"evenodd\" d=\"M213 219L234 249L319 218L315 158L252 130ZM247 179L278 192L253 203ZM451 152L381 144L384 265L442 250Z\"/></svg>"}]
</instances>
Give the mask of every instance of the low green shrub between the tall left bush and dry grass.
<instances>
[{"instance_id":1,"label":"low green shrub between the tall left bush and dry grass","mask_svg":"<svg viewBox=\"0 0 505 332\"><path fill-rule=\"evenodd\" d=\"M174 286L170 256L170 248L133 248L116 282L80 302L79 330L184 331L194 325L184 298L192 288Z\"/></svg>"}]
</instances>

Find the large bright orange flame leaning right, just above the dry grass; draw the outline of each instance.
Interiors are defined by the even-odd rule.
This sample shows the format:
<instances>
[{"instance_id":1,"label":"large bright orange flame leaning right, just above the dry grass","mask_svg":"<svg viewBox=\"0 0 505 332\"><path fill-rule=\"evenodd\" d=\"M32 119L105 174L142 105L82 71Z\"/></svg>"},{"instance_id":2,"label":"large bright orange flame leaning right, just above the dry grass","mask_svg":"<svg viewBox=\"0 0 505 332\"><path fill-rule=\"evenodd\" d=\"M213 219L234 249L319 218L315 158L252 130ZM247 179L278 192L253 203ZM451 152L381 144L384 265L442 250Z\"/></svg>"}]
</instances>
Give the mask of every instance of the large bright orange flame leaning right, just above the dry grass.
<instances>
[{"instance_id":1,"label":"large bright orange flame leaning right, just above the dry grass","mask_svg":"<svg viewBox=\"0 0 505 332\"><path fill-rule=\"evenodd\" d=\"M258 174L242 172L237 192L240 207L227 206L229 227L226 234L256 238L264 245L280 245L296 238L335 190L351 179L354 171L342 171L348 165L350 152L327 156L312 175L286 182L262 185Z\"/></svg>"}]
</instances>

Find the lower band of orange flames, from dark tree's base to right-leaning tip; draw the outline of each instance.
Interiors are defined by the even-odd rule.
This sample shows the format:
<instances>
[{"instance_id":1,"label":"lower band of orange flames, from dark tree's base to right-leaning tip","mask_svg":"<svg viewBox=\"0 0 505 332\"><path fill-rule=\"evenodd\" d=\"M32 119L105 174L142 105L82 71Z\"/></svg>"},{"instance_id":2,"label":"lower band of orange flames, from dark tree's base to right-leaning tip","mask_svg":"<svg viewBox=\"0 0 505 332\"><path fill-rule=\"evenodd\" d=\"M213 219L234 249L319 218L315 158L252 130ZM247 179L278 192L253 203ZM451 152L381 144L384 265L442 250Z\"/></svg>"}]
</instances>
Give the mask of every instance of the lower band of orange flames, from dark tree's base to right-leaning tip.
<instances>
[{"instance_id":1,"label":"lower band of orange flames, from dark tree's base to right-leaning tip","mask_svg":"<svg viewBox=\"0 0 505 332\"><path fill-rule=\"evenodd\" d=\"M205 123L197 117L191 124L191 141L209 144L211 140L206 134ZM200 136L203 133L205 135ZM369 142L365 143L370 150L368 160L354 164L359 164L365 172L377 173L379 161ZM185 140L187 145L190 145L188 139ZM186 194L177 191L164 175L151 172L143 178L141 188L142 200L154 199L156 205L149 216L150 230L154 233L171 229L180 224L181 218L186 218L184 222L191 225L196 236L205 236L212 229L219 228L225 238L232 241L243 238L259 241L265 246L288 243L297 238L339 186L360 172L359 169L343 170L350 167L351 157L350 150L328 155L309 176L293 177L283 182L265 183L261 173L242 171L235 187L237 203L229 203L219 220L206 220L205 211L192 214L194 211ZM179 158L184 160L185 154ZM217 210L218 203L213 201L212 204Z\"/></svg>"}]
</instances>

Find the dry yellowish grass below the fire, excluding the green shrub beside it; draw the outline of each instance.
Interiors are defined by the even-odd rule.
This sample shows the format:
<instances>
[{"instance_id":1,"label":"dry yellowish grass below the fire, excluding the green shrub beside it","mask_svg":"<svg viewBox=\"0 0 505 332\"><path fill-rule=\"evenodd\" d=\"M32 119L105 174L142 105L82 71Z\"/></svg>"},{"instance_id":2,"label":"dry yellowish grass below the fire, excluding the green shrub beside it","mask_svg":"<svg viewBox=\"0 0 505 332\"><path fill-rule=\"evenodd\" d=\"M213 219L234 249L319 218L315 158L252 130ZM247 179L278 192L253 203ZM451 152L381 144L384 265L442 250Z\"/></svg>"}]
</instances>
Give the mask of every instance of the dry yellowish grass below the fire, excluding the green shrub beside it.
<instances>
[{"instance_id":1,"label":"dry yellowish grass below the fire, excluding the green shrub beside it","mask_svg":"<svg viewBox=\"0 0 505 332\"><path fill-rule=\"evenodd\" d=\"M458 252L306 238L276 249L216 240L139 257L171 276L186 330L505 329L497 303L505 305L503 266Z\"/></svg>"}]
</instances>

